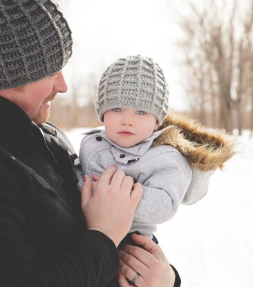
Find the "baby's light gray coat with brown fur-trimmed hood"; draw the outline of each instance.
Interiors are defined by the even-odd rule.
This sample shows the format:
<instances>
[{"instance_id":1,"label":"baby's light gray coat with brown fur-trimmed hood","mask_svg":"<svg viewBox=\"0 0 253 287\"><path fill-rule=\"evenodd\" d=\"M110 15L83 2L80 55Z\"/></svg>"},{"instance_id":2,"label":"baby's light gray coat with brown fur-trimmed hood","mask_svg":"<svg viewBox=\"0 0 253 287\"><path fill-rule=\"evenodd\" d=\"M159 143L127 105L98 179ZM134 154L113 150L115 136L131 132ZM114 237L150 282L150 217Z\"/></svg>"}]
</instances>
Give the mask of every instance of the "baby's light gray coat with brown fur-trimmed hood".
<instances>
[{"instance_id":1,"label":"baby's light gray coat with brown fur-trimmed hood","mask_svg":"<svg viewBox=\"0 0 253 287\"><path fill-rule=\"evenodd\" d=\"M156 224L171 219L180 203L201 199L213 172L233 155L229 137L182 116L169 115L159 129L130 148L118 146L104 130L91 130L75 161L79 188L83 174L102 175L111 164L142 184L144 193L129 232L147 236Z\"/></svg>"}]
</instances>

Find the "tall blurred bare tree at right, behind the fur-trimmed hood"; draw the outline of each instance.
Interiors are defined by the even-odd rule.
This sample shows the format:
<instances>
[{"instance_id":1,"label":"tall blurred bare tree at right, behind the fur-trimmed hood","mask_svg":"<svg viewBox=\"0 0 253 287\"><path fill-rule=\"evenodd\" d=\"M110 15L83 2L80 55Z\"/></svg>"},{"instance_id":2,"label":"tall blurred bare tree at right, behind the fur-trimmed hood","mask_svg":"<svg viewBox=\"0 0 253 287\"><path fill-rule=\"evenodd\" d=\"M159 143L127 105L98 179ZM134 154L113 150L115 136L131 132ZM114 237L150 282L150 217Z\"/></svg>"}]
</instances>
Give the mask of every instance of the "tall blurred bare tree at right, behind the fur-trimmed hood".
<instances>
[{"instance_id":1,"label":"tall blurred bare tree at right, behind the fur-trimmed hood","mask_svg":"<svg viewBox=\"0 0 253 287\"><path fill-rule=\"evenodd\" d=\"M241 133L249 97L246 78L252 58L245 55L252 53L253 0L244 1L247 12L243 17L242 1L239 6L233 0L230 7L227 1L218 0L205 1L203 8L188 3L191 13L181 19L185 39L180 45L185 49L188 90L200 102L209 103L209 111L203 104L198 106L200 120L205 122L206 112L210 112L212 124L218 119L218 126L228 132L238 128Z\"/></svg>"}]
</instances>

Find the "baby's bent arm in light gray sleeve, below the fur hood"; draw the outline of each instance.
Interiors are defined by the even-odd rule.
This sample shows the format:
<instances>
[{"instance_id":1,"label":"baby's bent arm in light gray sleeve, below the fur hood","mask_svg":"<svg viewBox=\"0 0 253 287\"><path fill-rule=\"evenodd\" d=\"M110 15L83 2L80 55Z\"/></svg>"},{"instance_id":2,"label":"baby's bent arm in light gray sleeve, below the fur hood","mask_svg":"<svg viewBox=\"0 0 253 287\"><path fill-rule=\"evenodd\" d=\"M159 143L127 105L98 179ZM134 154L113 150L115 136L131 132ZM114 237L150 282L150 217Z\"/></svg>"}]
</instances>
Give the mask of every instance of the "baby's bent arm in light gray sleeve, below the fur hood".
<instances>
[{"instance_id":1,"label":"baby's bent arm in light gray sleeve, below the fur hood","mask_svg":"<svg viewBox=\"0 0 253 287\"><path fill-rule=\"evenodd\" d=\"M165 147L167 150L167 148ZM165 151L138 167L144 192L134 221L161 224L173 217L191 181L191 167L176 151Z\"/></svg>"}]
</instances>

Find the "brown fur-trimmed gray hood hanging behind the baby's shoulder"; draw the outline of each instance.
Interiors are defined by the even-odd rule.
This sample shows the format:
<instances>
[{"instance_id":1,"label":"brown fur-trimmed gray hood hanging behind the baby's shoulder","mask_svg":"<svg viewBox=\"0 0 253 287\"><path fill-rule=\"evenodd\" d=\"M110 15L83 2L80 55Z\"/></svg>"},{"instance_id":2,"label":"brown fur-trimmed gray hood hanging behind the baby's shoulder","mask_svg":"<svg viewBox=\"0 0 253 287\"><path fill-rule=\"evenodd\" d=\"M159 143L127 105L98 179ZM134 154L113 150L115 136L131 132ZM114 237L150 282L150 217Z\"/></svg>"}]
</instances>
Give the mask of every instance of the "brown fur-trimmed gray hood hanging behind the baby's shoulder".
<instances>
[{"instance_id":1,"label":"brown fur-trimmed gray hood hanging behind the baby's shoulder","mask_svg":"<svg viewBox=\"0 0 253 287\"><path fill-rule=\"evenodd\" d=\"M209 178L216 168L223 168L225 161L234 155L234 140L219 130L173 113L158 130L163 131L153 141L153 146L173 146L189 161L192 178L182 204L193 204L206 194Z\"/></svg>"}]
</instances>

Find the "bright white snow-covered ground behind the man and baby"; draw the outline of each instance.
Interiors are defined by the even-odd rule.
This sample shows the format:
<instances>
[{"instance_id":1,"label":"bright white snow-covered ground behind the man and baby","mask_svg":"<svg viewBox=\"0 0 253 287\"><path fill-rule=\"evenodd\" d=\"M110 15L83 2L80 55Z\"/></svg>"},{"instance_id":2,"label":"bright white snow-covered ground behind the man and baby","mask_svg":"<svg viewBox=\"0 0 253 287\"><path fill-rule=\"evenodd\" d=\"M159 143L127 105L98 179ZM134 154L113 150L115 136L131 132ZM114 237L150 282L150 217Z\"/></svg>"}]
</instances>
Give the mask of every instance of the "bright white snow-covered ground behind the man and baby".
<instances>
[{"instance_id":1,"label":"bright white snow-covered ground behind the man and baby","mask_svg":"<svg viewBox=\"0 0 253 287\"><path fill-rule=\"evenodd\" d=\"M77 152L82 132L67 132ZM237 142L238 153L214 173L207 195L158 226L182 287L253 286L253 139Z\"/></svg>"}]
</instances>

